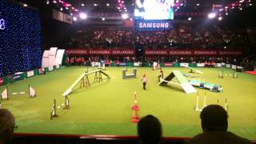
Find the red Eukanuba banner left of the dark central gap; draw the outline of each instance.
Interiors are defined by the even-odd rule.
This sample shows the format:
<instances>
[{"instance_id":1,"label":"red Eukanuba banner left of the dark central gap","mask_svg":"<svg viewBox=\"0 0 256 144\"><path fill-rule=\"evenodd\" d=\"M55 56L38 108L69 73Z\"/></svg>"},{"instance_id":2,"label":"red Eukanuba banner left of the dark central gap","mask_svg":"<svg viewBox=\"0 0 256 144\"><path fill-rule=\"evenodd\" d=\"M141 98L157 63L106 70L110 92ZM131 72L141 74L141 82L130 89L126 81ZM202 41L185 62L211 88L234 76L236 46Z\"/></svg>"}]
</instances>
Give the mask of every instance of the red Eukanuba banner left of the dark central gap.
<instances>
[{"instance_id":1,"label":"red Eukanuba banner left of the dark central gap","mask_svg":"<svg viewBox=\"0 0 256 144\"><path fill-rule=\"evenodd\" d=\"M67 55L134 55L134 50L84 50L84 49L75 49L75 50L66 50Z\"/></svg>"}]
</instances>

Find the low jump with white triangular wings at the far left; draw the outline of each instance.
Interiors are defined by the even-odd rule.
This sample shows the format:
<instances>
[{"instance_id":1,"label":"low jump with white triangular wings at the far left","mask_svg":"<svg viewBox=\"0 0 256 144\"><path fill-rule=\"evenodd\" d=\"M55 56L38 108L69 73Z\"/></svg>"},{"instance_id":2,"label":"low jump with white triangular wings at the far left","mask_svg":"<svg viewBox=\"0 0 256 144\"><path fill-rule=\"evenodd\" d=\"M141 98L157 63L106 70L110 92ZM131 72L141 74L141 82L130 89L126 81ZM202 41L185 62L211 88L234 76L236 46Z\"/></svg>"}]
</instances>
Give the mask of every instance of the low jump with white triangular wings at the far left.
<instances>
[{"instance_id":1,"label":"low jump with white triangular wings at the far left","mask_svg":"<svg viewBox=\"0 0 256 144\"><path fill-rule=\"evenodd\" d=\"M36 97L36 91L29 85L28 92L30 98ZM26 94L26 91L21 91L21 92L13 92L11 93L12 95L17 95L17 94ZM2 91L1 94L1 99L9 99L9 92L8 88L6 86L6 89Z\"/></svg>"}]
</instances>

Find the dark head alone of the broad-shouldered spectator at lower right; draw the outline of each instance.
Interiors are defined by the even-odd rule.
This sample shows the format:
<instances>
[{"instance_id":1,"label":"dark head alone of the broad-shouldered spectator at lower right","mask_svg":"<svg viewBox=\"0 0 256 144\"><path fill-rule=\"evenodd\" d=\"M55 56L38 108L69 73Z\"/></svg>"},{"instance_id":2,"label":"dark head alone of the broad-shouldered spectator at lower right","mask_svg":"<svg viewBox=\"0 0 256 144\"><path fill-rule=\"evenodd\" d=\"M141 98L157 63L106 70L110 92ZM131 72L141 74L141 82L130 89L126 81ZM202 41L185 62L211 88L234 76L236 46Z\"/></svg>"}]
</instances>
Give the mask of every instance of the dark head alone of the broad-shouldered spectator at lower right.
<instances>
[{"instance_id":1,"label":"dark head alone of the broad-shouldered spectator at lower right","mask_svg":"<svg viewBox=\"0 0 256 144\"><path fill-rule=\"evenodd\" d=\"M200 114L203 132L226 131L228 127L226 110L222 106L209 105L202 109Z\"/></svg>"}]
</instances>

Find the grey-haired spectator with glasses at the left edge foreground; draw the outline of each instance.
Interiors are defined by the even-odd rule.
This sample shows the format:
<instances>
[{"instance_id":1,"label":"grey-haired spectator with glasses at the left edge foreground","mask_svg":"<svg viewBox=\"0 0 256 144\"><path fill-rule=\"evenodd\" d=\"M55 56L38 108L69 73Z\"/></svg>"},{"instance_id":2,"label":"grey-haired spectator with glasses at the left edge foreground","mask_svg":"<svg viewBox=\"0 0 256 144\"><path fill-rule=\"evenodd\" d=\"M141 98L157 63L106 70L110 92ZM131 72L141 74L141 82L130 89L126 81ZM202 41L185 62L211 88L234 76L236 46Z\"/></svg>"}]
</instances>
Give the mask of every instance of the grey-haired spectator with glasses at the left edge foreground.
<instances>
[{"instance_id":1,"label":"grey-haired spectator with glasses at the left edge foreground","mask_svg":"<svg viewBox=\"0 0 256 144\"><path fill-rule=\"evenodd\" d=\"M9 144L14 134L14 115L9 110L0 109L0 144Z\"/></svg>"}]
</instances>

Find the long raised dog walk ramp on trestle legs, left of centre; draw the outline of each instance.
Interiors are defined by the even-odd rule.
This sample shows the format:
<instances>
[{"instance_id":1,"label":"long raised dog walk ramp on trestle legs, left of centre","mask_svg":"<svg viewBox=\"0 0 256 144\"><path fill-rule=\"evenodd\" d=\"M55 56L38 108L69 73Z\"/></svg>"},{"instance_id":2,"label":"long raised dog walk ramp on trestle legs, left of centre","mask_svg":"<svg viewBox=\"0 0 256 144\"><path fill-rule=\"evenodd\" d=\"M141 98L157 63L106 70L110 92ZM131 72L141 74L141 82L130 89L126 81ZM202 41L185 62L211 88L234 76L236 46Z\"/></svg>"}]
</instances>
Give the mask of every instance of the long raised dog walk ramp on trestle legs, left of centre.
<instances>
[{"instance_id":1,"label":"long raised dog walk ramp on trestle legs, left of centre","mask_svg":"<svg viewBox=\"0 0 256 144\"><path fill-rule=\"evenodd\" d=\"M78 83L80 82L80 88L84 87L84 86L90 86L90 81L88 76L90 74L95 74L94 75L94 82L102 82L102 74L106 75L107 78L110 78L110 76L106 73L104 73L102 70L94 70L94 71L90 71L88 73L85 74L81 74L76 81L74 81L74 83L64 92L64 94L62 94L63 96L67 96L71 93L71 91L74 89L75 86L78 85Z\"/></svg>"}]
</instances>

